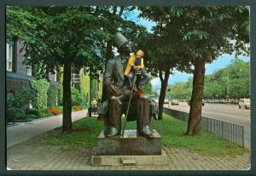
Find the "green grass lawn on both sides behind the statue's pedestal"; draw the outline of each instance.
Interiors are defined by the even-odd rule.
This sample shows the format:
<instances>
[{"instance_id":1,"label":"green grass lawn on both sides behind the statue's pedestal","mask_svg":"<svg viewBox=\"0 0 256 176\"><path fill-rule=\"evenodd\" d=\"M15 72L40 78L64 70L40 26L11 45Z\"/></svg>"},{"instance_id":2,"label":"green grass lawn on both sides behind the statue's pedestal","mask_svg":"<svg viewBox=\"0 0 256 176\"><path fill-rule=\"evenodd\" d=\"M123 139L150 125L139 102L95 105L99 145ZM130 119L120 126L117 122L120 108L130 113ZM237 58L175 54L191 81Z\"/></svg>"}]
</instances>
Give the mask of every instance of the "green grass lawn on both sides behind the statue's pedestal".
<instances>
[{"instance_id":1,"label":"green grass lawn on both sides behind the statue's pedestal","mask_svg":"<svg viewBox=\"0 0 256 176\"><path fill-rule=\"evenodd\" d=\"M162 137L162 145L185 147L211 156L236 156L247 149L234 145L217 135L202 131L200 136L185 135L187 123L164 114L162 121L154 121L154 128ZM61 133L61 128L46 133L33 141L36 145L59 145L63 148L92 148L103 129L96 117L86 117L73 122L73 133ZM136 122L127 122L126 129L136 129Z\"/></svg>"}]
</instances>

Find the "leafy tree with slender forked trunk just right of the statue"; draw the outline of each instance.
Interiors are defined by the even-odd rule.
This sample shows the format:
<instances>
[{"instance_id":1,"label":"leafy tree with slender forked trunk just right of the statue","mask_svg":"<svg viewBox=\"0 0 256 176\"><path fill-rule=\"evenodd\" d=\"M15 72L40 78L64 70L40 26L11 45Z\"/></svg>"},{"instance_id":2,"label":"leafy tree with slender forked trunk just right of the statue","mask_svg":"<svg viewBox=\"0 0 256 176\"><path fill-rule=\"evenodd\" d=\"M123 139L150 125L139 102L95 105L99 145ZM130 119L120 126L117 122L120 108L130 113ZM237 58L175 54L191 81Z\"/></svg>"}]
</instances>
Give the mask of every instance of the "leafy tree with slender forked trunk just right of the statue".
<instances>
[{"instance_id":1,"label":"leafy tree with slender forked trunk just right of the statue","mask_svg":"<svg viewBox=\"0 0 256 176\"><path fill-rule=\"evenodd\" d=\"M178 19L180 14L173 14L170 7L140 7L139 9L142 12L140 17L153 20L156 24L153 28L153 34L147 35L143 42L149 56L149 71L159 73L160 77L158 118L162 119L169 77L174 68L184 65L182 60L184 53L181 44L183 43L182 32L180 32L183 23Z\"/></svg>"}]
</instances>

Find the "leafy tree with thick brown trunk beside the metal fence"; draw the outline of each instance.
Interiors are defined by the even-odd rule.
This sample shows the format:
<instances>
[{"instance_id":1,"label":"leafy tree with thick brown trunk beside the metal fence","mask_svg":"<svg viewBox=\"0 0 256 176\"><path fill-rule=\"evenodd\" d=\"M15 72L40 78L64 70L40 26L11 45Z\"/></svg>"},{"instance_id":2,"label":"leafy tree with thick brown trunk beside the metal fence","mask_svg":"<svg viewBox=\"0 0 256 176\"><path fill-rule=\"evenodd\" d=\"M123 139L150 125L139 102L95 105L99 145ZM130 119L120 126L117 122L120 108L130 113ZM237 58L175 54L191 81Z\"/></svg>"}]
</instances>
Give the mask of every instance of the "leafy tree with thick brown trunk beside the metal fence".
<instances>
[{"instance_id":1,"label":"leafy tree with thick brown trunk beside the metal fence","mask_svg":"<svg viewBox=\"0 0 256 176\"><path fill-rule=\"evenodd\" d=\"M182 18L185 50L184 58L194 65L188 135L201 131L201 101L205 79L205 64L216 60L220 54L248 54L248 9L245 7L186 7ZM244 26L241 28L241 26ZM216 30L218 29L218 30ZM232 44L231 41L236 41Z\"/></svg>"}]
</instances>

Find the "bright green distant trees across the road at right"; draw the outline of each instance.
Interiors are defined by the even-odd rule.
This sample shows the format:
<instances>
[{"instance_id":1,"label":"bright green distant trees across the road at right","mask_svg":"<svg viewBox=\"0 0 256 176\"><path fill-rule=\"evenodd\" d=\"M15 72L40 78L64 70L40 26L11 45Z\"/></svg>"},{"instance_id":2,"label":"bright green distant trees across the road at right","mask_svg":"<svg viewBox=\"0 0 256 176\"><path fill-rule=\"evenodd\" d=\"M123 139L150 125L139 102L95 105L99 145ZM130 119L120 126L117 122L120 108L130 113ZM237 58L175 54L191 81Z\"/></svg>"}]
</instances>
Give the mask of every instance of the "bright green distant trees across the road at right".
<instances>
[{"instance_id":1,"label":"bright green distant trees across the road at right","mask_svg":"<svg viewBox=\"0 0 256 176\"><path fill-rule=\"evenodd\" d=\"M227 67L214 71L211 75L206 75L204 99L227 99L228 96L230 99L248 98L250 89L249 73L249 62L236 58ZM190 77L188 82L177 82L172 85L172 91L169 95L174 99L190 99L192 81L192 77Z\"/></svg>"}]
</instances>

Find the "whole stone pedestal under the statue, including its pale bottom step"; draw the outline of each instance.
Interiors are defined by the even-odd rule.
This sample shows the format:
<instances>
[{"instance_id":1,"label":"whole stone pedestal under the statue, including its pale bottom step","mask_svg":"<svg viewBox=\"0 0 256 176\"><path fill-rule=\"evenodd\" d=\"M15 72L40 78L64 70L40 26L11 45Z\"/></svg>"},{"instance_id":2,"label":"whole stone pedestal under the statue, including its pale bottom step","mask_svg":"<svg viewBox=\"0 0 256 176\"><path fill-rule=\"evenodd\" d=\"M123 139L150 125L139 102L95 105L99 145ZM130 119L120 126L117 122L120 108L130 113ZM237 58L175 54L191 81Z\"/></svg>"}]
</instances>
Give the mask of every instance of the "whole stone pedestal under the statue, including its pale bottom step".
<instances>
[{"instance_id":1,"label":"whole stone pedestal under the statue, including its pale bottom step","mask_svg":"<svg viewBox=\"0 0 256 176\"><path fill-rule=\"evenodd\" d=\"M96 156L91 164L115 165L166 165L168 157L161 150L160 134L154 131L154 138L137 136L137 130L125 130L124 137L107 138L104 132L98 136Z\"/></svg>"}]
</instances>

